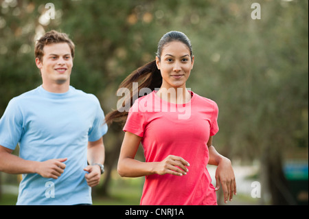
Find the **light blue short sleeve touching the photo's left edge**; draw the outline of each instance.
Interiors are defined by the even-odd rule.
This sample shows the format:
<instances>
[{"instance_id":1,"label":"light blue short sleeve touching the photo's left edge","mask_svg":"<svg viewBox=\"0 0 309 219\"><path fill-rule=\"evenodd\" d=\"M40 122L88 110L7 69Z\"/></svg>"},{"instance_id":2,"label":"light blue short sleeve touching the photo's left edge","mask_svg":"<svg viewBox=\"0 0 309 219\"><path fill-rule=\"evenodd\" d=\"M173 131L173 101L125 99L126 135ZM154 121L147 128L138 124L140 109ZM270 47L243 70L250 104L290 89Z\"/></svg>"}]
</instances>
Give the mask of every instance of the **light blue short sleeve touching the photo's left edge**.
<instances>
[{"instance_id":1,"label":"light blue short sleeve touching the photo's left edge","mask_svg":"<svg viewBox=\"0 0 309 219\"><path fill-rule=\"evenodd\" d=\"M23 115L13 98L0 119L0 145L14 150L23 135Z\"/></svg>"}]
</instances>

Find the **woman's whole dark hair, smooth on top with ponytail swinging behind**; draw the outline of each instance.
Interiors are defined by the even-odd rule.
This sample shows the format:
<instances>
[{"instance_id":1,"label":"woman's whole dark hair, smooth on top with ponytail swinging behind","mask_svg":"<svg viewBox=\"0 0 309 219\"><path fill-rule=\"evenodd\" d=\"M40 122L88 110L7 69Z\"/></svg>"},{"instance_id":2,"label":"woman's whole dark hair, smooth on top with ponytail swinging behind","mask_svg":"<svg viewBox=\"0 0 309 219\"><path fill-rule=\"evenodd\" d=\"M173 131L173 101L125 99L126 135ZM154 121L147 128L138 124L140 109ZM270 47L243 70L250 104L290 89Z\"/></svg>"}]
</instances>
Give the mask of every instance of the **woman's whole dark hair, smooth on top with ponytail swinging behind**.
<instances>
[{"instance_id":1,"label":"woman's whole dark hair, smooth on top with ponytail swinging behind","mask_svg":"<svg viewBox=\"0 0 309 219\"><path fill-rule=\"evenodd\" d=\"M161 60L163 47L173 41L179 41L187 45L187 47L190 49L190 56L192 59L193 53L190 39L187 38L187 36L182 32L171 31L164 34L158 43L157 57L159 60ZM139 67L130 73L130 75L126 77L126 79L124 79L124 81L119 85L119 89L127 88L130 90L130 97L124 99L122 106L128 106L128 102L130 102L129 106L133 105L133 97L137 96L136 93L133 93L133 82L138 83L138 89L137 91L134 91L137 92L137 94L139 93L139 90L143 88L151 89L151 91L154 91L156 88L160 88L162 84L162 76L161 71L157 68L156 60L148 62L146 65ZM113 121L125 122L127 116L128 109L123 112L119 112L117 110L111 111L111 113L106 115L105 122L106 124L112 124Z\"/></svg>"}]
</instances>

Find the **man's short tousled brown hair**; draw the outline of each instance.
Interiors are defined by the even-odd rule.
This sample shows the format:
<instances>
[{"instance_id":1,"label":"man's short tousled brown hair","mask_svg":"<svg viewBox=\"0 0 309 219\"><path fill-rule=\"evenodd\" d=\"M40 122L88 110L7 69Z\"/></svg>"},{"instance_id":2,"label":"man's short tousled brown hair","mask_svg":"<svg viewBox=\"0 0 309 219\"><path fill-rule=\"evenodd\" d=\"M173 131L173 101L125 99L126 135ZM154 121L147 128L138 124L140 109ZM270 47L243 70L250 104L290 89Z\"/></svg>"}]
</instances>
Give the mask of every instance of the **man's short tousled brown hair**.
<instances>
[{"instance_id":1,"label":"man's short tousled brown hair","mask_svg":"<svg viewBox=\"0 0 309 219\"><path fill-rule=\"evenodd\" d=\"M74 58L75 45L69 38L69 36L65 33L57 32L56 30L51 30L44 34L38 41L36 42L36 46L34 48L35 57L38 58L41 62L43 61L43 48L45 45L49 45L52 43L67 43L71 49L71 56Z\"/></svg>"}]
</instances>

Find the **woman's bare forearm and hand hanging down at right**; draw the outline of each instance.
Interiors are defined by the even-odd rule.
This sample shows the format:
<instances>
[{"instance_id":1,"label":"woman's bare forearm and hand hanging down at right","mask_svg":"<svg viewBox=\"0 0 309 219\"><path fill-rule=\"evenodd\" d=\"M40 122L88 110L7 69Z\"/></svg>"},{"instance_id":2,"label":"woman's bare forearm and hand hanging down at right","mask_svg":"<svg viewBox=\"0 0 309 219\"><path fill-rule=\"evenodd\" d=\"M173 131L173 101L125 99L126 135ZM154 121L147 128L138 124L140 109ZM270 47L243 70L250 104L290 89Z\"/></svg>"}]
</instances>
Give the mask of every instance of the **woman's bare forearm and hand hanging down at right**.
<instances>
[{"instance_id":1,"label":"woman's bare forearm and hand hanging down at right","mask_svg":"<svg viewBox=\"0 0 309 219\"><path fill-rule=\"evenodd\" d=\"M221 184L225 203L227 203L228 199L230 201L232 200L233 194L236 195L236 179L231 166L231 161L219 154L214 146L212 146L212 136L209 137L207 146L209 150L208 164L218 166L216 170L216 191L220 189Z\"/></svg>"}]
</instances>

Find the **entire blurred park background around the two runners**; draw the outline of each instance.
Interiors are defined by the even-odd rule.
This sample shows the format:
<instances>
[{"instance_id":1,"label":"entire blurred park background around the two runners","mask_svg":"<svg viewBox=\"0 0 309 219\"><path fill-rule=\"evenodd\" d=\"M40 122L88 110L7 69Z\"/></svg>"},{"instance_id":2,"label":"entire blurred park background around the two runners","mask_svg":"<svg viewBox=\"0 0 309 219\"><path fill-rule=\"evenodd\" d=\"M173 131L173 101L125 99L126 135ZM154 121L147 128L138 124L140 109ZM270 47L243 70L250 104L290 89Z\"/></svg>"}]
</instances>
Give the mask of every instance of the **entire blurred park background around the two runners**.
<instances>
[{"instance_id":1,"label":"entire blurred park background around the two runners","mask_svg":"<svg viewBox=\"0 0 309 219\"><path fill-rule=\"evenodd\" d=\"M119 83L155 59L163 34L187 34L195 55L187 87L217 102L214 146L236 174L228 205L308 205L308 1L0 0L0 117L12 97L41 84L34 43L53 29L76 44L71 85L95 94L105 114ZM94 205L139 205L144 178L116 171L123 136L121 124L104 136ZM0 205L15 205L20 180L0 172Z\"/></svg>"}]
</instances>

